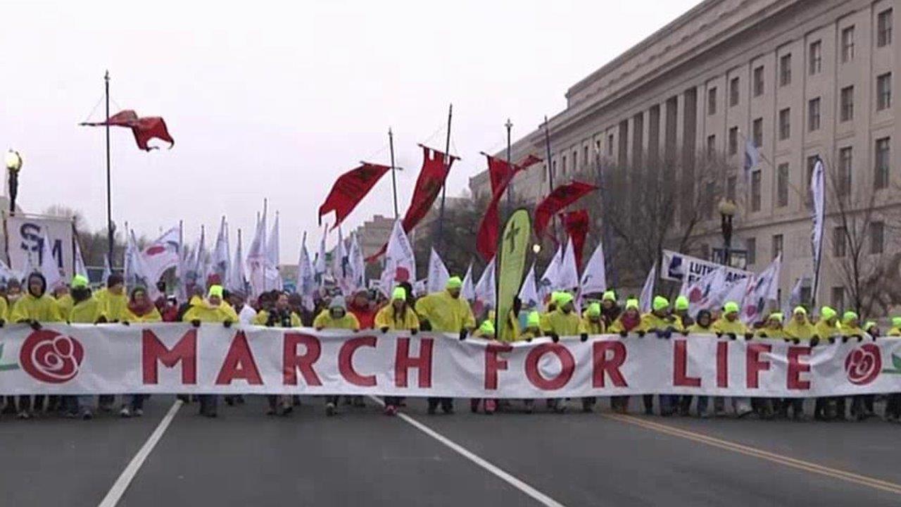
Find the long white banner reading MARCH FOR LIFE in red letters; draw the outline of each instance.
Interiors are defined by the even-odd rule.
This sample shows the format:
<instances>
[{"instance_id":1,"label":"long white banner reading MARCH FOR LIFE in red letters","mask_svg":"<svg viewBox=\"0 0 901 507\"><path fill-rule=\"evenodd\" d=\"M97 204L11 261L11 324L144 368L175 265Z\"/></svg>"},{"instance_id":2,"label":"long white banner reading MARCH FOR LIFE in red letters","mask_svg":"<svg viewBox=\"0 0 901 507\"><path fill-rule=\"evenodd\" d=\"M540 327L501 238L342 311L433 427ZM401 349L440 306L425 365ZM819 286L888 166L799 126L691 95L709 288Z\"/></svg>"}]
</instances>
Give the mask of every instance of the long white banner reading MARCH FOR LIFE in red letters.
<instances>
[{"instance_id":1,"label":"long white banner reading MARCH FOR LIFE in red letters","mask_svg":"<svg viewBox=\"0 0 901 507\"><path fill-rule=\"evenodd\" d=\"M782 340L651 335L501 344L435 333L107 324L38 331L14 325L3 328L0 340L0 394L562 398L901 392L896 338L813 348Z\"/></svg>"}]
</instances>

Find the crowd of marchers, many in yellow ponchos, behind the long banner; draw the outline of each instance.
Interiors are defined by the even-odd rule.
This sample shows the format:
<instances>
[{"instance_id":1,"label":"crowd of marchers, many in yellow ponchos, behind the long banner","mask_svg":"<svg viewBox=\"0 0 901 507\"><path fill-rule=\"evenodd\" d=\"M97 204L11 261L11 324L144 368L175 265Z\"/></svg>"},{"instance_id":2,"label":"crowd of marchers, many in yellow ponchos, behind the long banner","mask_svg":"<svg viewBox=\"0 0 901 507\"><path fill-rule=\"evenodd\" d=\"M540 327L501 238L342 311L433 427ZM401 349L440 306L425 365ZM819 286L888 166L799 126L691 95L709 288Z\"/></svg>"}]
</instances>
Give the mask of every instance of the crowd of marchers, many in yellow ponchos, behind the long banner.
<instances>
[{"instance_id":1,"label":"crowd of marchers, many in yellow ponchos, behind the long banner","mask_svg":"<svg viewBox=\"0 0 901 507\"><path fill-rule=\"evenodd\" d=\"M459 277L451 277L444 290L416 298L408 283L400 283L385 298L378 291L359 290L350 301L341 295L323 294L314 301L311 311L298 294L288 294L272 290L248 301L241 291L223 290L217 280L207 281L206 289L197 286L187 295L187 300L177 301L173 297L159 297L151 300L144 287L134 287L126 291L123 277L112 274L105 281L105 287L92 290L87 279L76 276L66 286L59 287L52 294L47 293L47 283L43 276L34 272L23 283L10 280L0 286L0 326L5 322L27 323L35 329L48 323L119 324L150 322L187 322L195 327L218 324L231 327L235 323L266 327L314 327L316 329L348 329L359 331L373 329L406 331L412 334L423 331L451 333L465 340L478 336L487 340L501 336L514 341L531 341L540 336L553 341L561 336L576 337L586 341L588 336L618 334L623 337L669 339L672 336L692 334L715 335L729 340L784 340L794 344L809 346L830 346L849 340L877 340L879 336L901 336L901 318L892 319L892 327L885 335L872 321L862 323L854 311L841 315L835 309L823 307L815 314L798 306L791 315L774 311L753 327L747 326L740 317L741 308L733 301L726 302L721 309L702 309L696 315L689 314L689 302L680 296L673 304L663 297L654 297L651 310L642 314L639 300L627 298L621 301L614 290L603 294L588 295L584 299L583 310L577 310L577 301L566 291L551 293L542 311L523 309L521 301L514 299L513 309L505 319L500 319L507 328L497 333L496 319L488 312L486 319L478 324L469 301L461 297L462 282ZM159 286L165 293L165 287ZM39 415L61 415L69 418L91 419L95 411L118 412L124 418L140 417L143 414L147 395L131 394L121 396L117 406L113 395L100 396L7 396L3 413L29 419ZM194 401L187 395L179 396L183 401ZM610 408L618 413L642 410L647 415L655 413L653 395L642 396L641 407L630 406L629 396L614 396ZM807 419L804 399L787 398L721 398L706 396L685 396L660 394L658 412L661 416L725 417L732 413L743 418L754 415L760 419L791 418ZM712 398L712 400L711 400ZM883 397L879 397L880 400ZM199 395L200 414L216 417L218 414L217 395ZM268 395L268 415L287 416L300 403L296 396ZM887 421L901 420L901 393L891 393L884 397L883 417ZM242 396L225 396L228 405L242 404ZM324 397L324 410L332 416L339 409L338 396ZM364 406L361 397L348 397L347 404ZM727 403L728 401L728 403ZM850 402L849 402L850 401ZM854 419L862 420L876 416L877 397L857 395L851 397L816 398L813 402L813 418L816 420ZM406 401L398 397L385 397L384 410L387 415L395 415L405 406ZM498 410L523 410L531 413L535 403L531 400L515 401L522 407L514 407L514 401L471 400L469 409L486 414ZM595 410L596 398L580 400L581 409ZM546 410L565 412L567 400L547 400ZM694 407L694 411L692 408ZM427 399L427 410L434 414L438 410L453 413L453 400L449 398ZM728 410L731 409L731 410Z\"/></svg>"}]
</instances>

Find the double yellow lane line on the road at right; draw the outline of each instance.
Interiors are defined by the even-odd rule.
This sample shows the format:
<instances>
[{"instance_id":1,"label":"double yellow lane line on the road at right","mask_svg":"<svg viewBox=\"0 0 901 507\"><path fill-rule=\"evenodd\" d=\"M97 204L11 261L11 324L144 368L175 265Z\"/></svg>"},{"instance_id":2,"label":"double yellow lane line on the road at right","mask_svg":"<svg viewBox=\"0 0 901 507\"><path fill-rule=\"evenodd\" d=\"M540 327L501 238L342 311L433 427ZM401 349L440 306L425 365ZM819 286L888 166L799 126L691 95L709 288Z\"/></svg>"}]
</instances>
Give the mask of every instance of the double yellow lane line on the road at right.
<instances>
[{"instance_id":1,"label":"double yellow lane line on the road at right","mask_svg":"<svg viewBox=\"0 0 901 507\"><path fill-rule=\"evenodd\" d=\"M712 447L719 447L721 449L733 451L745 456L753 456L760 459L765 459L772 463L777 463L783 466L790 466L792 468L804 470L813 474L826 475L836 479L842 479L843 481L848 481L850 483L868 486L888 493L901 494L901 484L890 483L888 481L883 481L874 477L869 477L867 475L854 474L852 472L847 472L838 468L817 465L816 463L805 461L803 459L796 459L794 457L778 455L756 447L745 446L736 442L731 442L729 440L710 437L708 435L697 433L695 431L675 428L666 424L660 424L658 422L640 419L634 416L604 414L604 417L607 419L614 419L620 422L640 426L644 429L651 429L652 431L664 433L672 437L686 438L688 440L706 444Z\"/></svg>"}]
</instances>

